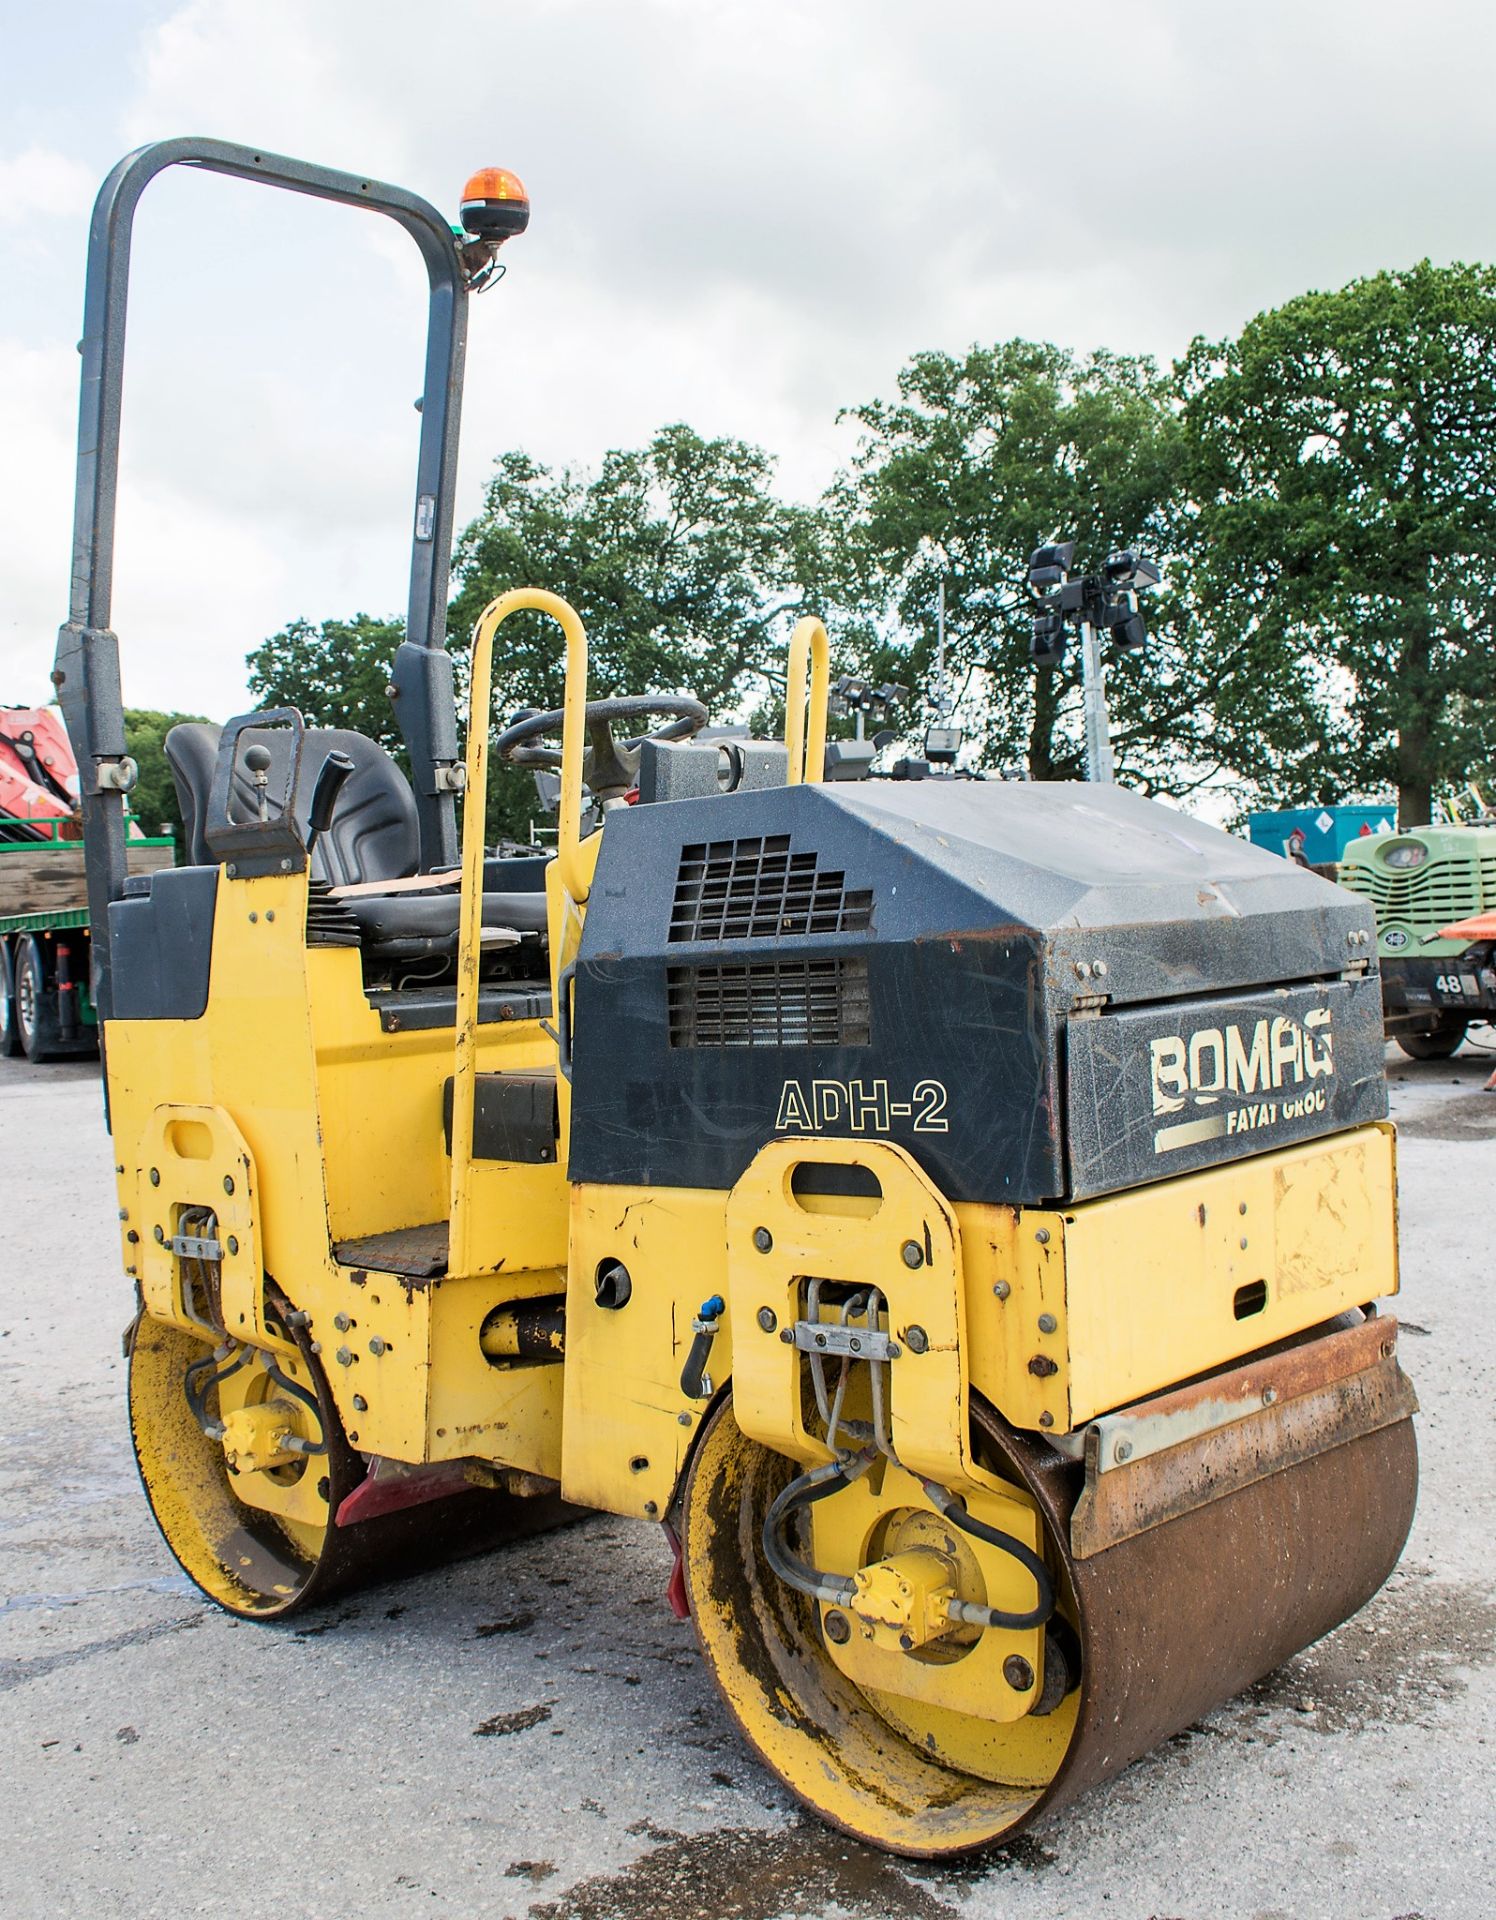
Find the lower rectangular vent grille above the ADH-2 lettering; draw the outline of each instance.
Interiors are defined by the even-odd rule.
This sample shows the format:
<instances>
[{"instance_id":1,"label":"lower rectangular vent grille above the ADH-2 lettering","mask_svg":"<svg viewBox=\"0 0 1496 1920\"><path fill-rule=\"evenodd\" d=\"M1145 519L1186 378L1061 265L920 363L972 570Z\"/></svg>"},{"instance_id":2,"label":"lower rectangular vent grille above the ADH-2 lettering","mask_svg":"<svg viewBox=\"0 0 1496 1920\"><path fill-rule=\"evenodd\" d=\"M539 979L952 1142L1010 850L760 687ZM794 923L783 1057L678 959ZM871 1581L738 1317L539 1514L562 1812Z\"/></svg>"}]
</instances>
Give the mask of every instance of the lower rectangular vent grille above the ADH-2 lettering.
<instances>
[{"instance_id":1,"label":"lower rectangular vent grille above the ADH-2 lettering","mask_svg":"<svg viewBox=\"0 0 1496 1920\"><path fill-rule=\"evenodd\" d=\"M866 960L672 966L672 1046L868 1046Z\"/></svg>"}]
</instances>

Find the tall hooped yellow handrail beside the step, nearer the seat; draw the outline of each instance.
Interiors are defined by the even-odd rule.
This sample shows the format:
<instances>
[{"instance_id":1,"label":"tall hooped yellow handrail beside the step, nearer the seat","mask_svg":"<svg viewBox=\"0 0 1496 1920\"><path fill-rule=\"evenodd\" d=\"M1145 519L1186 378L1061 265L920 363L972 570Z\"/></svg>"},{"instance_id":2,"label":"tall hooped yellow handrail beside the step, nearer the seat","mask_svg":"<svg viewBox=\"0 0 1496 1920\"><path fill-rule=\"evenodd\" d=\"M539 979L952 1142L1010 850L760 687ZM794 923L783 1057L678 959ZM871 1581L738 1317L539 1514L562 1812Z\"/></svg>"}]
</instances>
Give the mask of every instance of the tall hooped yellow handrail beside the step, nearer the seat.
<instances>
[{"instance_id":1,"label":"tall hooped yellow handrail beside the step, nearer the seat","mask_svg":"<svg viewBox=\"0 0 1496 1920\"><path fill-rule=\"evenodd\" d=\"M478 614L472 628L472 682L467 714L467 787L463 803L463 893L457 914L457 1062L451 1079L451 1221L447 1271L471 1271L469 1190L472 1169L472 1100L478 1071L478 964L484 925L484 816L488 812L488 732L494 701L494 637L511 612L547 612L567 636L567 693L561 724L561 816L557 870L574 900L586 900L582 847L582 749L588 705L588 636L574 607L542 588L515 588Z\"/></svg>"}]
</instances>

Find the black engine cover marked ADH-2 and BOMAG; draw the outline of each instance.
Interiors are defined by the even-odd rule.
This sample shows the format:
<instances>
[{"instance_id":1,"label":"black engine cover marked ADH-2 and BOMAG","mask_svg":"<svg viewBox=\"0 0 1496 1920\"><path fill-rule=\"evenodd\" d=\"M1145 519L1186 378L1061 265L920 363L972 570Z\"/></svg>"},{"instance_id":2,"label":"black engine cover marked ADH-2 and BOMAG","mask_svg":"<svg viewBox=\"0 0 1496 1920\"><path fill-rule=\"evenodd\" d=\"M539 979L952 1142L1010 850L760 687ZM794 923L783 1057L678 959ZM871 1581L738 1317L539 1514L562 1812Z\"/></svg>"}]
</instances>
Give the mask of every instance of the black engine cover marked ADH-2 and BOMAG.
<instances>
[{"instance_id":1,"label":"black engine cover marked ADH-2 and BOMAG","mask_svg":"<svg viewBox=\"0 0 1496 1920\"><path fill-rule=\"evenodd\" d=\"M1362 935L1367 935L1362 939ZM730 1187L776 1135L1047 1204L1387 1112L1371 910L1102 785L868 781L609 814L570 1177Z\"/></svg>"}]
</instances>

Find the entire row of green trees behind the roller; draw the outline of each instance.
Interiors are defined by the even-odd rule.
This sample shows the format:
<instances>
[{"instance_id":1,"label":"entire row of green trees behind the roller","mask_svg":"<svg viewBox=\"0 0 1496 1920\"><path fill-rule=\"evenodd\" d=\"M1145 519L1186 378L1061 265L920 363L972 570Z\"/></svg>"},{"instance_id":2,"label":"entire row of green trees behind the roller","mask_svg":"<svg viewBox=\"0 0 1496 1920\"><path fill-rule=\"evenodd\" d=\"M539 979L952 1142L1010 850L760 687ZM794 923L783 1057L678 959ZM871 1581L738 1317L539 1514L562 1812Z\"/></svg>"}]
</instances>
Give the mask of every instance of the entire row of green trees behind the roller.
<instances>
[{"instance_id":1,"label":"entire row of green trees behind the roller","mask_svg":"<svg viewBox=\"0 0 1496 1920\"><path fill-rule=\"evenodd\" d=\"M482 607L515 586L588 626L593 695L689 691L776 724L793 618L845 664L929 703L935 605L987 768L1079 778L1079 649L1035 672L1027 557L1075 540L1164 563L1145 655L1108 660L1118 778L1241 804L1396 787L1404 824L1496 760L1496 271L1431 267L1304 294L1170 372L1031 340L916 353L826 497L684 424L595 470L522 451L494 468L453 566L465 684ZM255 697L399 753L398 620L292 620L250 657ZM494 722L561 705L559 636L505 626ZM905 716L912 724L918 714ZM528 780L495 770L492 824L524 831Z\"/></svg>"}]
</instances>

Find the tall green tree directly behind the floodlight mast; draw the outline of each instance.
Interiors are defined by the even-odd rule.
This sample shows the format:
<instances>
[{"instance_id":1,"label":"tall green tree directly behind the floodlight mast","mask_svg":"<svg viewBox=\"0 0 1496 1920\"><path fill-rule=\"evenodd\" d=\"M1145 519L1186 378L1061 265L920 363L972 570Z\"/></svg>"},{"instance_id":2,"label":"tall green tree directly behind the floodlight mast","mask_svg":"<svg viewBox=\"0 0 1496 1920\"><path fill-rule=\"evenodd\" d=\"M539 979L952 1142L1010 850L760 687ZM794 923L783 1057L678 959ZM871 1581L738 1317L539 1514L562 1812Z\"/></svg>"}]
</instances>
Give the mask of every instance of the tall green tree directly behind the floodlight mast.
<instances>
[{"instance_id":1,"label":"tall green tree directly behind the floodlight mast","mask_svg":"<svg viewBox=\"0 0 1496 1920\"><path fill-rule=\"evenodd\" d=\"M1168 378L1148 359L1008 340L916 353L897 401L849 417L864 438L828 495L820 584L880 634L872 672L929 684L945 582L947 664L985 764L1081 778L1079 649L1054 670L1029 664L1027 561L1050 538L1077 541L1077 570L1120 543L1168 559L1185 513ZM1154 597L1148 624L1148 655L1108 664L1114 751L1122 778L1177 793L1219 755L1179 597Z\"/></svg>"}]
</instances>

